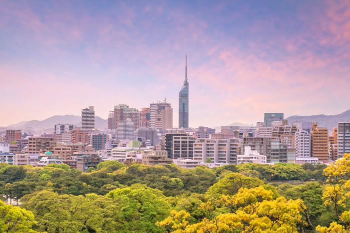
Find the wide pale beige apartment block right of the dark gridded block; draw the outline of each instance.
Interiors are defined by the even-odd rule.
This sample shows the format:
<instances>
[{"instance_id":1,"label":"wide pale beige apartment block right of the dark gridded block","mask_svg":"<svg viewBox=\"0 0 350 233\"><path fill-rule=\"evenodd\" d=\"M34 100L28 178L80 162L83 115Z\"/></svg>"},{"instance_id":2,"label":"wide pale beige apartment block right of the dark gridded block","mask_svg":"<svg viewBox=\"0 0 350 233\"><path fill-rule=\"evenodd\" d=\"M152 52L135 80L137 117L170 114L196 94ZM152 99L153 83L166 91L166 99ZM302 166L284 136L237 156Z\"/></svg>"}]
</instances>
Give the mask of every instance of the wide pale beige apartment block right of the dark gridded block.
<instances>
[{"instance_id":1,"label":"wide pale beige apartment block right of the dark gridded block","mask_svg":"<svg viewBox=\"0 0 350 233\"><path fill-rule=\"evenodd\" d=\"M193 160L205 163L206 159L209 158L213 163L237 164L240 142L239 139L199 138L193 143Z\"/></svg>"}]
</instances>

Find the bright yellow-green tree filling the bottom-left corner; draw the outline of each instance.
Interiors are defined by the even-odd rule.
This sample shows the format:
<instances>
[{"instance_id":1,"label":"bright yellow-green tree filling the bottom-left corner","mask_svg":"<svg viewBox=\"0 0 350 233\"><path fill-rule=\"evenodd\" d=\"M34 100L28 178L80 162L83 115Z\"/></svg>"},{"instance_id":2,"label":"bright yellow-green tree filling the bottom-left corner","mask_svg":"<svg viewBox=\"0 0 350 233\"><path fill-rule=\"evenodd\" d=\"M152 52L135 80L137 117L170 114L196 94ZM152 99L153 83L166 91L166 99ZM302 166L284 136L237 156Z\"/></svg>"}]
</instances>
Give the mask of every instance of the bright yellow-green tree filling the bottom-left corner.
<instances>
[{"instance_id":1,"label":"bright yellow-green tree filling the bottom-left corner","mask_svg":"<svg viewBox=\"0 0 350 233\"><path fill-rule=\"evenodd\" d=\"M5 205L0 200L0 232L36 233L32 230L34 224L34 215L30 211Z\"/></svg>"}]
</instances>

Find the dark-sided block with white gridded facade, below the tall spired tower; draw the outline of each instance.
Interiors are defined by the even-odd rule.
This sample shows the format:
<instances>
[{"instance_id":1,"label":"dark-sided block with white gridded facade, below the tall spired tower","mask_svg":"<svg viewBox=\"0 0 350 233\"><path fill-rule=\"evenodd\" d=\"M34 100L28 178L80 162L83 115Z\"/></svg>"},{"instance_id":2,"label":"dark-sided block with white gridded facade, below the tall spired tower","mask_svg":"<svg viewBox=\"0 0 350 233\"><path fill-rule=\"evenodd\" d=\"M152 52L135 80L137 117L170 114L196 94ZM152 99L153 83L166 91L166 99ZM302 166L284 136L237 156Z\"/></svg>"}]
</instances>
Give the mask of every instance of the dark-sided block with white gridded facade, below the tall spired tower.
<instances>
[{"instance_id":1,"label":"dark-sided block with white gridded facade, below the tall spired tower","mask_svg":"<svg viewBox=\"0 0 350 233\"><path fill-rule=\"evenodd\" d=\"M170 159L193 159L193 143L196 138L188 133L166 133L165 150Z\"/></svg>"}]
</instances>

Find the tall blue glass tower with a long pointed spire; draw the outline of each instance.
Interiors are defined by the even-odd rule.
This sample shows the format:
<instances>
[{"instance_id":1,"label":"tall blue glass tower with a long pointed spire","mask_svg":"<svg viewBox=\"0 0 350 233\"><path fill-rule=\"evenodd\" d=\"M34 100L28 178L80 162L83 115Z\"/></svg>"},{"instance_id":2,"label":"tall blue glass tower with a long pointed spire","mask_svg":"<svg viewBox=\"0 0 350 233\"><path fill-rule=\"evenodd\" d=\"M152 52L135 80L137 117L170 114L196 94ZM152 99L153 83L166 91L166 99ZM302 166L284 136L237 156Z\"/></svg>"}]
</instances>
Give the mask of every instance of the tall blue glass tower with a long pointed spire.
<instances>
[{"instance_id":1,"label":"tall blue glass tower with a long pointed spire","mask_svg":"<svg viewBox=\"0 0 350 233\"><path fill-rule=\"evenodd\" d=\"M186 69L183 86L178 93L178 128L188 128L188 81L187 81L187 54Z\"/></svg>"}]
</instances>

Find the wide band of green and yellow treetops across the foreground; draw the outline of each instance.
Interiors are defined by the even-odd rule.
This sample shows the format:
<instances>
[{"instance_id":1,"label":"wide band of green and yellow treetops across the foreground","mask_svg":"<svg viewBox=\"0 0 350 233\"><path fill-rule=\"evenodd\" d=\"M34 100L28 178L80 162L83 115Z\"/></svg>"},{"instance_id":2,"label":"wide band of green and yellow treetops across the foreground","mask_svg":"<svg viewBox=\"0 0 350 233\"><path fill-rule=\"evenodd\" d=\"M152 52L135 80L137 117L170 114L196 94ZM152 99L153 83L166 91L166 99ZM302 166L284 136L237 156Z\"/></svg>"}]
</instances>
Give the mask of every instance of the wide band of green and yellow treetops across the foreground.
<instances>
[{"instance_id":1,"label":"wide band of green and yellow treetops across the foreground","mask_svg":"<svg viewBox=\"0 0 350 233\"><path fill-rule=\"evenodd\" d=\"M85 173L2 163L0 232L350 233L349 158L212 169L106 161Z\"/></svg>"}]
</instances>

